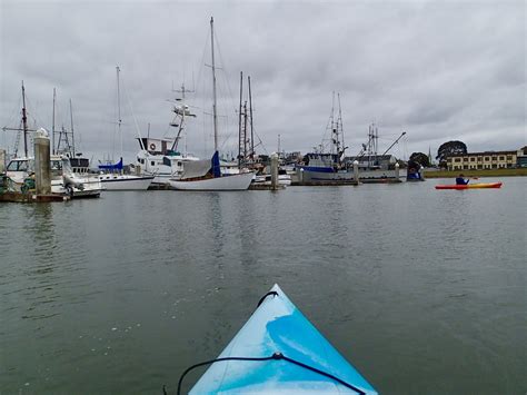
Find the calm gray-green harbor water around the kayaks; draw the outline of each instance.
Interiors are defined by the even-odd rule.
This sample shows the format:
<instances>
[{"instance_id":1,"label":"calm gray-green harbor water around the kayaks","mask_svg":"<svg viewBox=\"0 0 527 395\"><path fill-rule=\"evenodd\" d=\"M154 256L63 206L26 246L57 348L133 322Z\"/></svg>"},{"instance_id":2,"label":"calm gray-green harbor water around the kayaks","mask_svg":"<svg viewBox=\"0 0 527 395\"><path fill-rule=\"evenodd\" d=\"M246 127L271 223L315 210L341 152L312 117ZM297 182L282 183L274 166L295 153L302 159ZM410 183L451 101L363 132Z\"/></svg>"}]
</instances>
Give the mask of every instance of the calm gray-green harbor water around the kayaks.
<instances>
[{"instance_id":1,"label":"calm gray-green harbor water around the kayaks","mask_svg":"<svg viewBox=\"0 0 527 395\"><path fill-rule=\"evenodd\" d=\"M503 181L1 205L0 394L175 393L275 283L381 393L525 394L527 178Z\"/></svg>"}]
</instances>

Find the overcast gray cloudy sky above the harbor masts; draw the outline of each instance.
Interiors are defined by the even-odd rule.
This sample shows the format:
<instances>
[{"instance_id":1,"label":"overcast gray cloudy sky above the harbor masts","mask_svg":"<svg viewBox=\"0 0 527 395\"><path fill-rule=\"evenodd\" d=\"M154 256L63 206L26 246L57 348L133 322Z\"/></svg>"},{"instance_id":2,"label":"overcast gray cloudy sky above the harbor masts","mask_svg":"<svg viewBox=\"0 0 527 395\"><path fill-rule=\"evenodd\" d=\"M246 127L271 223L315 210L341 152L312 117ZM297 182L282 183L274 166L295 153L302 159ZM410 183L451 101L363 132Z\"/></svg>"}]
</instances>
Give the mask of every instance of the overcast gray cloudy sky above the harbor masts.
<instances>
[{"instance_id":1,"label":"overcast gray cloudy sky above the harbor masts","mask_svg":"<svg viewBox=\"0 0 527 395\"><path fill-rule=\"evenodd\" d=\"M525 1L21 1L0 0L0 126L18 125L24 81L31 125L74 128L90 157L116 141L116 65L121 68L125 157L138 128L169 134L172 81L195 87L188 149L208 155L209 19L219 48L221 140L235 150L239 72L251 76L255 130L267 152L319 145L341 95L346 144L356 154L375 121L394 154L470 151L526 144ZM193 80L193 83L192 83ZM137 127L136 121L137 120ZM1 131L0 131L1 132ZM1 132L12 146L13 132ZM227 136L231 136L227 140ZM113 148L115 147L115 148ZM262 150L259 149L261 152Z\"/></svg>"}]
</instances>

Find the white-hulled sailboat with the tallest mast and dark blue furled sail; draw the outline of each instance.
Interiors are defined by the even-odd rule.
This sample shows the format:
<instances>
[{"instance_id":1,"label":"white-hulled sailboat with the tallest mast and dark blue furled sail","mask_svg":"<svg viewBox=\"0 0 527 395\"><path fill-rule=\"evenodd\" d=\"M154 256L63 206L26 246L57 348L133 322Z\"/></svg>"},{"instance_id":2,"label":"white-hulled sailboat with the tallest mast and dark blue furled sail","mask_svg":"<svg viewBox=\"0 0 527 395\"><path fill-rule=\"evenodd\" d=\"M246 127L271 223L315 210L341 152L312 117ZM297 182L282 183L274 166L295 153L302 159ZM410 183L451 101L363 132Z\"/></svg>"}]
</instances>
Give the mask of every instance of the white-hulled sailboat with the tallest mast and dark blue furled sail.
<instances>
[{"instance_id":1,"label":"white-hulled sailboat with the tallest mast and dark blue furled sail","mask_svg":"<svg viewBox=\"0 0 527 395\"><path fill-rule=\"evenodd\" d=\"M215 154L210 160L196 160L183 164L183 172L178 179L170 179L170 187L179 190L246 190L252 181L253 174L239 172L222 175L218 152L218 115L216 98L215 30L213 18L210 18L210 45L212 60L212 117L215 130Z\"/></svg>"}]
</instances>

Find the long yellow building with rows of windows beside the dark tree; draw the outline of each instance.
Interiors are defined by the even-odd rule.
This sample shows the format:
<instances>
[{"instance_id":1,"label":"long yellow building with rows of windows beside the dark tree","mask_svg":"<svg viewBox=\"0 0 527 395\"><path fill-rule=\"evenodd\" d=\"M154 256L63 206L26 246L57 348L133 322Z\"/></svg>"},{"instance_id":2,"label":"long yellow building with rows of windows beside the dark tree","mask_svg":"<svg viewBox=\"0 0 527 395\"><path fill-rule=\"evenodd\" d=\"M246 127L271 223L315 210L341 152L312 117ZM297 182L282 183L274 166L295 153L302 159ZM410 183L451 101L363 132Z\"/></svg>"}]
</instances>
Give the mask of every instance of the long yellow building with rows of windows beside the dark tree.
<instances>
[{"instance_id":1,"label":"long yellow building with rows of windows beside the dark tree","mask_svg":"<svg viewBox=\"0 0 527 395\"><path fill-rule=\"evenodd\" d=\"M518 152L519 151L485 151L453 154L446 158L447 168L448 170L510 169L519 165Z\"/></svg>"}]
</instances>

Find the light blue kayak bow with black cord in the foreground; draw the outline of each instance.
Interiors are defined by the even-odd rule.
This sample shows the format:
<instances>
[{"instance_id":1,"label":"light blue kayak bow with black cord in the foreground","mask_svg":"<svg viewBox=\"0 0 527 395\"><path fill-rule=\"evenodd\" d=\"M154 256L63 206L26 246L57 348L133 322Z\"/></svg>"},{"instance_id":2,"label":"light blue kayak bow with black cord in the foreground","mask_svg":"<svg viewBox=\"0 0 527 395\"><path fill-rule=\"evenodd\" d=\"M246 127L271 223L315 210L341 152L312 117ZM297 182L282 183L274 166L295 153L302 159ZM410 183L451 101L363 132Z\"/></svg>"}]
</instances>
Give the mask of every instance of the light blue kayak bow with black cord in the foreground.
<instances>
[{"instance_id":1,"label":"light blue kayak bow with black cord in the foreground","mask_svg":"<svg viewBox=\"0 0 527 395\"><path fill-rule=\"evenodd\" d=\"M275 285L190 394L377 394Z\"/></svg>"}]
</instances>

